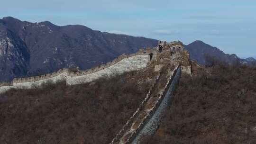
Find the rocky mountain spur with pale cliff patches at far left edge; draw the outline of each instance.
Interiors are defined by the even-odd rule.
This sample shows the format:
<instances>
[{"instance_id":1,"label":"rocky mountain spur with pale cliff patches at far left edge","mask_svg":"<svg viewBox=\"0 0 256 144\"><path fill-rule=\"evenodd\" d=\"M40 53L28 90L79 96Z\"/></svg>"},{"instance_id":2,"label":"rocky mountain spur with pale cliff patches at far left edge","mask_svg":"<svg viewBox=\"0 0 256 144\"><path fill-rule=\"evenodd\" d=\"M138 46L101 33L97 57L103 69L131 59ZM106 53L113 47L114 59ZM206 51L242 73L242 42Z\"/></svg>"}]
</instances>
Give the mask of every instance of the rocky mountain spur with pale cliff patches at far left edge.
<instances>
[{"instance_id":1,"label":"rocky mountain spur with pale cliff patches at far left edge","mask_svg":"<svg viewBox=\"0 0 256 144\"><path fill-rule=\"evenodd\" d=\"M29 61L30 54L24 41L0 24L0 80L26 75Z\"/></svg>"}]
</instances>

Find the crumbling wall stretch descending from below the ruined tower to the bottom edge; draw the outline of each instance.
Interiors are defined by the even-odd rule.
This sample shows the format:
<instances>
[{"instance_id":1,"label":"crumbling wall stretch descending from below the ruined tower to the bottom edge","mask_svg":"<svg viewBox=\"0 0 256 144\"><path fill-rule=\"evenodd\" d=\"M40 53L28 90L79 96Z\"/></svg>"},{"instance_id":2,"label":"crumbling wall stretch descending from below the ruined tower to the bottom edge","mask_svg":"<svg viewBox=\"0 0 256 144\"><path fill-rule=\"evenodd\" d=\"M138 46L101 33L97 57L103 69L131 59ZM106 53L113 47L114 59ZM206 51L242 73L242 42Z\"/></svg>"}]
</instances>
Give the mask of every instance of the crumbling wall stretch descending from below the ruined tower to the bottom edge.
<instances>
[{"instance_id":1,"label":"crumbling wall stretch descending from below the ruined tower to the bottom edge","mask_svg":"<svg viewBox=\"0 0 256 144\"><path fill-rule=\"evenodd\" d=\"M111 144L140 144L145 138L154 135L161 122L161 118L165 114L166 108L170 105L170 99L173 97L175 85L177 84L180 75L181 66L178 65L174 71L170 73L164 89L159 91L160 95L154 100L154 104L150 106L150 108L147 108L146 106L149 106L152 102L149 102L149 99L154 99L151 97L151 91L157 87L156 85L159 82L158 79L160 76L158 75L155 83L146 95L146 98L134 115L130 117L128 122L123 126L122 130L119 131L116 137L112 140Z\"/></svg>"}]
</instances>

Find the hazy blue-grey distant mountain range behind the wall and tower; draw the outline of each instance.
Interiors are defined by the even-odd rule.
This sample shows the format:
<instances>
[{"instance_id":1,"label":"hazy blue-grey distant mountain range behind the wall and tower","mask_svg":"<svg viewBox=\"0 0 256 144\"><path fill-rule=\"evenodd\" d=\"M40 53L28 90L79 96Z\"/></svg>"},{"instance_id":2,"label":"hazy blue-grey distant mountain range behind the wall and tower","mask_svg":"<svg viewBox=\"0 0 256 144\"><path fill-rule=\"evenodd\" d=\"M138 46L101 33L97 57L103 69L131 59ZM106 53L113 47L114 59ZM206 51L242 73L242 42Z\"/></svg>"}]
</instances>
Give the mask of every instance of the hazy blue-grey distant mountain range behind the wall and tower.
<instances>
[{"instance_id":1,"label":"hazy blue-grey distant mountain range behind the wall and tower","mask_svg":"<svg viewBox=\"0 0 256 144\"><path fill-rule=\"evenodd\" d=\"M60 68L81 70L106 63L125 53L153 47L158 40L110 34L81 25L56 26L49 21L31 23L16 18L0 19L0 81L14 77L35 76ZM238 59L236 54L224 54L216 47L195 41L185 48L191 59L205 64L204 55L227 62ZM240 59L241 63L256 61Z\"/></svg>"}]
</instances>

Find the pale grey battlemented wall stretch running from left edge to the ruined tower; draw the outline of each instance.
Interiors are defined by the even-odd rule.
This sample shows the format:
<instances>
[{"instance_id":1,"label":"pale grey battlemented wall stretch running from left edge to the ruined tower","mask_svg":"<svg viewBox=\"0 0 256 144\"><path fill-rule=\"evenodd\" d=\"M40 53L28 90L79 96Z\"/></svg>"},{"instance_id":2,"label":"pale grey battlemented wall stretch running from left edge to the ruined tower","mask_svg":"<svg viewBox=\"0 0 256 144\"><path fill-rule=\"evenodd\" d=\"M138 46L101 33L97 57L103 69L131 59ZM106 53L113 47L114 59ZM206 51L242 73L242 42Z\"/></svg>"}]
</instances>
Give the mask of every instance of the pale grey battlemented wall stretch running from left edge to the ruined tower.
<instances>
[{"instance_id":1,"label":"pale grey battlemented wall stretch running from left edge to the ruined tower","mask_svg":"<svg viewBox=\"0 0 256 144\"><path fill-rule=\"evenodd\" d=\"M61 69L57 72L29 77L14 79L10 83L0 83L0 93L3 93L11 88L16 89L31 89L35 86L41 86L42 83L57 81L66 81L67 85L90 82L99 79L103 76L110 76L116 73L136 71L146 68L149 63L150 50L140 50L136 54L121 55L110 63L91 68L85 71L70 72L69 69Z\"/></svg>"}]
</instances>

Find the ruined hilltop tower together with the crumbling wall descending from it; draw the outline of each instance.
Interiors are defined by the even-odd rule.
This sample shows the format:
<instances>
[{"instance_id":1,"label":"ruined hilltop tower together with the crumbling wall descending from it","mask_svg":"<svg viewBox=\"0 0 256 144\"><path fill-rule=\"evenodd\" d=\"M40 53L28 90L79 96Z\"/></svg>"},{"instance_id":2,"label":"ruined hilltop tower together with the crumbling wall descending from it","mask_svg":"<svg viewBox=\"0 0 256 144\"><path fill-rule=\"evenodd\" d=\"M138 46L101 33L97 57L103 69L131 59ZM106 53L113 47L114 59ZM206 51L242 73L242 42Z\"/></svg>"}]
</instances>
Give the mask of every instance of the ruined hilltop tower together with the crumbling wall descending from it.
<instances>
[{"instance_id":1,"label":"ruined hilltop tower together with the crumbling wall descending from it","mask_svg":"<svg viewBox=\"0 0 256 144\"><path fill-rule=\"evenodd\" d=\"M173 46L177 43L182 46ZM158 76L146 98L110 144L141 144L155 134L174 97L181 73L191 75L189 53L183 49L181 42L177 43L159 42L159 54L155 58L158 61L155 65Z\"/></svg>"}]
</instances>

